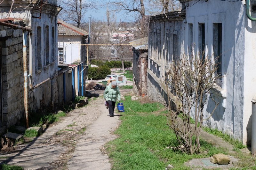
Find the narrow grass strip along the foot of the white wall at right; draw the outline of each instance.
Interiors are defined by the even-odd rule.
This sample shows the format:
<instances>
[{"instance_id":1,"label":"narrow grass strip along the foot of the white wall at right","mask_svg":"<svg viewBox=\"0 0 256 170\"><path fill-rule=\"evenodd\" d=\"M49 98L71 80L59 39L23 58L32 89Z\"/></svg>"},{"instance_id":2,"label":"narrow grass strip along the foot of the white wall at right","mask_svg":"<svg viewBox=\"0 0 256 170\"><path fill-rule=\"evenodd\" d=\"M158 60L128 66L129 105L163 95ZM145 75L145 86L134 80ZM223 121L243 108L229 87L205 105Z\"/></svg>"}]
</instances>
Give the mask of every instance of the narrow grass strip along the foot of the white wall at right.
<instances>
[{"instance_id":1,"label":"narrow grass strip along the foot of the white wall at right","mask_svg":"<svg viewBox=\"0 0 256 170\"><path fill-rule=\"evenodd\" d=\"M234 138L230 137L228 134L222 133L218 129L211 129L211 128L207 128L207 127L204 127L203 129L204 129L204 131L206 131L212 135L221 137L224 141L232 144L236 149L243 149L243 148L247 147L246 145L243 145L242 142L235 140Z\"/></svg>"}]
</instances>

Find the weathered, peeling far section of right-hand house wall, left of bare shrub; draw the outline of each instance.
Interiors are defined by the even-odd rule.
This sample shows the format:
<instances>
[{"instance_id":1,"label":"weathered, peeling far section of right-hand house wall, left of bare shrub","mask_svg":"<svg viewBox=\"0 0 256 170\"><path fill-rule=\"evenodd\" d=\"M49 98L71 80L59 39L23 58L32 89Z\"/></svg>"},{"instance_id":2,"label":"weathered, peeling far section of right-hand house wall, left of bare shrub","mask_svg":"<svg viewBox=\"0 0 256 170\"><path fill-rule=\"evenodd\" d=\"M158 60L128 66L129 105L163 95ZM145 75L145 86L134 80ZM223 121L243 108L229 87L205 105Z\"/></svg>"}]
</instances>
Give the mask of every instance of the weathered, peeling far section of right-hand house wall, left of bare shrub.
<instances>
[{"instance_id":1,"label":"weathered, peeling far section of right-hand house wall, left of bare shrub","mask_svg":"<svg viewBox=\"0 0 256 170\"><path fill-rule=\"evenodd\" d=\"M168 20L169 18L152 20L149 23L148 38L147 96L164 104L167 103L166 90L164 90L165 71L172 63L173 47L177 47L177 57L184 54L183 18ZM174 34L177 35L175 43L173 43Z\"/></svg>"}]
</instances>

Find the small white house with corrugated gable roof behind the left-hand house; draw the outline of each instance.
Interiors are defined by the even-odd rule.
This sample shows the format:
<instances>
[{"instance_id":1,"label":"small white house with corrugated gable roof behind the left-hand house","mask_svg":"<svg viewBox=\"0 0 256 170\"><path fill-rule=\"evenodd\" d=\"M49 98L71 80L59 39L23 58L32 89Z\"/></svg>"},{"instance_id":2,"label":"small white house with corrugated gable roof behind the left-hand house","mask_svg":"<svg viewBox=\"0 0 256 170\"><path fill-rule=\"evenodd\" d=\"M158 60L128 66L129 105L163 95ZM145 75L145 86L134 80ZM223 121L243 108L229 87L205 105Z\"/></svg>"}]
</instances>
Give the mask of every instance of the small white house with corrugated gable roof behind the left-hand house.
<instances>
[{"instance_id":1,"label":"small white house with corrugated gable roof behind the left-hand house","mask_svg":"<svg viewBox=\"0 0 256 170\"><path fill-rule=\"evenodd\" d=\"M87 36L86 31L58 19L58 63L81 62L85 47L79 44L85 44Z\"/></svg>"}]
</instances>

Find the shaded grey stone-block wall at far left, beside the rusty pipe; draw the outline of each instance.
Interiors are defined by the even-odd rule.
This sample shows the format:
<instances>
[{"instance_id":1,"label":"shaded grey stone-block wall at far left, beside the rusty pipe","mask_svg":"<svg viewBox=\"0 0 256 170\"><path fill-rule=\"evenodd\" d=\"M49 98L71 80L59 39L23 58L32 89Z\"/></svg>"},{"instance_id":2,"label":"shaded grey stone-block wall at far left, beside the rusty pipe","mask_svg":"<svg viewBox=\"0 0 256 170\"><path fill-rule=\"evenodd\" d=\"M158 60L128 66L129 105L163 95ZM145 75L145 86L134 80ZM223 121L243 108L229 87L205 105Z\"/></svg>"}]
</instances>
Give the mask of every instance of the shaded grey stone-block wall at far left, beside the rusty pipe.
<instances>
[{"instance_id":1,"label":"shaded grey stone-block wall at far left, beside the rusty pipe","mask_svg":"<svg viewBox=\"0 0 256 170\"><path fill-rule=\"evenodd\" d=\"M0 26L0 38L3 124L10 127L24 115L22 30Z\"/></svg>"}]
</instances>

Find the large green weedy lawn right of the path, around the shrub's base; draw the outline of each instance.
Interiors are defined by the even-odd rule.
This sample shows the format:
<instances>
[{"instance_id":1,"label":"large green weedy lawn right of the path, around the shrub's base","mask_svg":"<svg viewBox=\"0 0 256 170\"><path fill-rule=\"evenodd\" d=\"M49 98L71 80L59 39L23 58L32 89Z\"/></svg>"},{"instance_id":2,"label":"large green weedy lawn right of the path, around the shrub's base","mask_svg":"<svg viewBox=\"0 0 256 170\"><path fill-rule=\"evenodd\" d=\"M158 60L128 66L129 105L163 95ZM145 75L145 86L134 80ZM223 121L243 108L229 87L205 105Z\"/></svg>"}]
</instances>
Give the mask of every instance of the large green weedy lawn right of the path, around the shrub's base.
<instances>
[{"instance_id":1,"label":"large green weedy lawn right of the path, around the shrub's base","mask_svg":"<svg viewBox=\"0 0 256 170\"><path fill-rule=\"evenodd\" d=\"M165 169L168 164L173 169L190 169L184 162L194 158L204 158L216 153L227 153L201 140L200 154L188 155L174 151L178 142L174 132L166 125L166 116L153 114L164 108L159 103L141 104L125 96L124 113L118 113L122 121L115 133L119 136L107 146L113 169ZM159 111L160 112L160 111ZM163 113L165 113L164 111ZM205 152L206 151L206 152Z\"/></svg>"}]
</instances>

